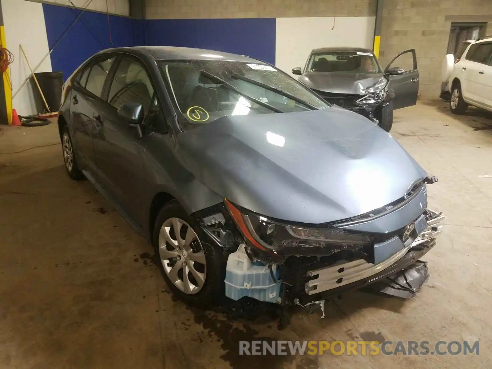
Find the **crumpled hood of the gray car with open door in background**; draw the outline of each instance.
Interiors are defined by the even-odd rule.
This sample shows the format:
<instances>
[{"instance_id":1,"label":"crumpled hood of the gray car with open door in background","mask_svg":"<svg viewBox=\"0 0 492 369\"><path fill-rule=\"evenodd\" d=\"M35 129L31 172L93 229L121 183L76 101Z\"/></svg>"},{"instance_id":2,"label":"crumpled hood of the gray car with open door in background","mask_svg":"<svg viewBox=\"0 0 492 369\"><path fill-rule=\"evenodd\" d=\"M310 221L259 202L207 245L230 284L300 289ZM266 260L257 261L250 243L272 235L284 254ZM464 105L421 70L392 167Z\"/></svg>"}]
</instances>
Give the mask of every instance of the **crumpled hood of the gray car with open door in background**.
<instances>
[{"instance_id":1,"label":"crumpled hood of the gray car with open door in background","mask_svg":"<svg viewBox=\"0 0 492 369\"><path fill-rule=\"evenodd\" d=\"M313 90L363 95L361 88L374 85L382 76L382 73L306 72L299 82Z\"/></svg>"}]
</instances>

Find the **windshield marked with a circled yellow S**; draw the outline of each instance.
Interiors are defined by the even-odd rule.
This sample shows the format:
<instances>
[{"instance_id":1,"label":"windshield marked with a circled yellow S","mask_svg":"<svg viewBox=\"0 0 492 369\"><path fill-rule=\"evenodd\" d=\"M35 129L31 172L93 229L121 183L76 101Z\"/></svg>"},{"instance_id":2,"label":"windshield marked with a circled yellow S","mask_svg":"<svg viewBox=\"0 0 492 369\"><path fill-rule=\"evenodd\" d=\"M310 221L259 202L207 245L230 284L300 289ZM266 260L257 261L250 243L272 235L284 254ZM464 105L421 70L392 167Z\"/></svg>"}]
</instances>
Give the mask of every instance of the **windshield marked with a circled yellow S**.
<instances>
[{"instance_id":1,"label":"windshield marked with a circled yellow S","mask_svg":"<svg viewBox=\"0 0 492 369\"><path fill-rule=\"evenodd\" d=\"M276 68L253 62L160 62L184 129L224 116L292 113L330 105Z\"/></svg>"}]
</instances>

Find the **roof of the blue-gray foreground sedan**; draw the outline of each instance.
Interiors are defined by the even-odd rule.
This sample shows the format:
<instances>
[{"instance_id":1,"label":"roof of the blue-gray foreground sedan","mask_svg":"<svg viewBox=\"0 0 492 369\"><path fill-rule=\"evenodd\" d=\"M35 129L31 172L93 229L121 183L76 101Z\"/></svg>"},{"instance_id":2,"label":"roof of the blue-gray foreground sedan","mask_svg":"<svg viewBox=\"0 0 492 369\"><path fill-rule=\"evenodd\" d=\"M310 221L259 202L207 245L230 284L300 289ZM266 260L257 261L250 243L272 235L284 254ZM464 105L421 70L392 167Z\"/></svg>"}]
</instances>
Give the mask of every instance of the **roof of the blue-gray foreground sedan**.
<instances>
[{"instance_id":1,"label":"roof of the blue-gray foreground sedan","mask_svg":"<svg viewBox=\"0 0 492 369\"><path fill-rule=\"evenodd\" d=\"M99 54L121 52L137 56L145 55L154 60L226 60L234 62L259 62L244 55L224 53L215 50L194 49L174 46L133 46L106 49Z\"/></svg>"}]
</instances>

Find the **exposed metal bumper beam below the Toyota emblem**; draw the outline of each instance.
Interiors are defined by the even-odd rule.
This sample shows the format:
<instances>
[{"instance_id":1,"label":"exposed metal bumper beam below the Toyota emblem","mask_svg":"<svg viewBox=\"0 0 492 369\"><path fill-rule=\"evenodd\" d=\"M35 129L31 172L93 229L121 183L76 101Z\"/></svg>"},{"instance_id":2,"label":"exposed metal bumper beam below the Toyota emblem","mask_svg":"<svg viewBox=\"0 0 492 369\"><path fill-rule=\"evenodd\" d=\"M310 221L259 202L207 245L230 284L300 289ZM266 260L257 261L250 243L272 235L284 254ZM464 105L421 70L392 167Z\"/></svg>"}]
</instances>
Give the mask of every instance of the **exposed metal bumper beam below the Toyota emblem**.
<instances>
[{"instance_id":1,"label":"exposed metal bumper beam below the Toyota emblem","mask_svg":"<svg viewBox=\"0 0 492 369\"><path fill-rule=\"evenodd\" d=\"M435 236L441 233L442 225L438 224L444 216L440 213L428 212L426 224L419 230L417 236L406 245L403 244L403 248L385 260L377 264L369 263L364 259L341 261L325 268L309 270L305 277L304 291L292 285L294 287L290 289L292 297L299 299L302 305L334 298L348 290L380 281L417 262L435 245ZM415 223L418 224L419 219Z\"/></svg>"}]
</instances>

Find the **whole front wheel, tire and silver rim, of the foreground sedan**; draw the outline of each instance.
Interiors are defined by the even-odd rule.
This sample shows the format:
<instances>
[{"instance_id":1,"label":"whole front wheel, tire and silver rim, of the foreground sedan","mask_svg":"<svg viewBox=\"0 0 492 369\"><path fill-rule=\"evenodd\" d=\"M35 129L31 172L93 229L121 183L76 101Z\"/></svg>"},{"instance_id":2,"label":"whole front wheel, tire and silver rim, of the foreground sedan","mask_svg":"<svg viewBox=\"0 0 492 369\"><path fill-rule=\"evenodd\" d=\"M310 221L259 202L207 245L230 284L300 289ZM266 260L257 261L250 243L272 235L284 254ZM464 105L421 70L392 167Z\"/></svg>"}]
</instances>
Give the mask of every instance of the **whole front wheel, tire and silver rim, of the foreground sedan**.
<instances>
[{"instance_id":1,"label":"whole front wheel, tire and silver rim, of the foreground sedan","mask_svg":"<svg viewBox=\"0 0 492 369\"><path fill-rule=\"evenodd\" d=\"M223 252L208 242L200 226L176 200L164 205L157 215L153 245L161 274L175 296L205 309L223 298Z\"/></svg>"}]
</instances>

